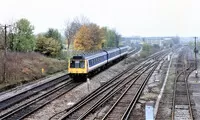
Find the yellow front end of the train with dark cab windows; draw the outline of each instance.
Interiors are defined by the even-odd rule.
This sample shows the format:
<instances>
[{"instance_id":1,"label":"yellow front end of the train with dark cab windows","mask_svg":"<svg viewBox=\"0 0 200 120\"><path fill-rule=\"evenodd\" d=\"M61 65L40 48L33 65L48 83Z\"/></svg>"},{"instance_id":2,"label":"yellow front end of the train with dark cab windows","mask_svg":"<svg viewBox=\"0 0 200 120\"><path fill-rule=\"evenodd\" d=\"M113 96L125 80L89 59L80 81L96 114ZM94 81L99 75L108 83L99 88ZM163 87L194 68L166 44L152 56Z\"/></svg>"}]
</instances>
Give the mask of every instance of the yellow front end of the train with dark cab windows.
<instances>
[{"instance_id":1,"label":"yellow front end of the train with dark cab windows","mask_svg":"<svg viewBox=\"0 0 200 120\"><path fill-rule=\"evenodd\" d=\"M70 59L68 73L75 81L85 81L87 77L87 61L84 59Z\"/></svg>"}]
</instances>

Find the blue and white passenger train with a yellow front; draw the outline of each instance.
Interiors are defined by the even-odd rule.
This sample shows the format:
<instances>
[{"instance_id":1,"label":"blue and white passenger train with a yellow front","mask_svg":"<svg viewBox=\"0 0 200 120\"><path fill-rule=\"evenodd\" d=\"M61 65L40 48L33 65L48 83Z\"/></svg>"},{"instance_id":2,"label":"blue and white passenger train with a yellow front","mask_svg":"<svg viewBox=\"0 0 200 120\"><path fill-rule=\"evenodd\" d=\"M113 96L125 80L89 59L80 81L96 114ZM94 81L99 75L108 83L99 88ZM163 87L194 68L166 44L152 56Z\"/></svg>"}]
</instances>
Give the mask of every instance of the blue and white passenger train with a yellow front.
<instances>
[{"instance_id":1,"label":"blue and white passenger train with a yellow front","mask_svg":"<svg viewBox=\"0 0 200 120\"><path fill-rule=\"evenodd\" d=\"M125 58L128 54L128 46L101 50L92 54L75 55L69 60L68 73L74 80L86 80L96 71Z\"/></svg>"}]
</instances>

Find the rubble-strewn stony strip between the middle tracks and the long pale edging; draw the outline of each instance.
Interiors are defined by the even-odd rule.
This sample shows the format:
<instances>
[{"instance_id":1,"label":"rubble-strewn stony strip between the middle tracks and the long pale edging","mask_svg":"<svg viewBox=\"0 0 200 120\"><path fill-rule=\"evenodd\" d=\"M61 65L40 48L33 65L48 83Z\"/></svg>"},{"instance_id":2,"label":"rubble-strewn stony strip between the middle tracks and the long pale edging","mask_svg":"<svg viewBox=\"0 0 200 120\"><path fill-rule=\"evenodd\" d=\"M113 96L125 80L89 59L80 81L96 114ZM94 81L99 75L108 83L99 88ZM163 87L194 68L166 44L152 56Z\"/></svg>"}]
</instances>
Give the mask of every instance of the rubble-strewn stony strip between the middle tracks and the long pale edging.
<instances>
[{"instance_id":1,"label":"rubble-strewn stony strip between the middle tracks and the long pale edging","mask_svg":"<svg viewBox=\"0 0 200 120\"><path fill-rule=\"evenodd\" d=\"M165 79L165 76L167 73L168 65L169 65L169 61L167 61L167 57L166 57L165 61L163 61L159 64L159 66L156 68L156 70L152 74L151 78L149 79L149 81L142 93L142 96L140 97L139 101L136 104L136 107L132 111L130 120L145 119L145 104L147 102L156 103L156 100L160 93L160 89L162 87L162 84L164 82L164 79Z\"/></svg>"}]
</instances>

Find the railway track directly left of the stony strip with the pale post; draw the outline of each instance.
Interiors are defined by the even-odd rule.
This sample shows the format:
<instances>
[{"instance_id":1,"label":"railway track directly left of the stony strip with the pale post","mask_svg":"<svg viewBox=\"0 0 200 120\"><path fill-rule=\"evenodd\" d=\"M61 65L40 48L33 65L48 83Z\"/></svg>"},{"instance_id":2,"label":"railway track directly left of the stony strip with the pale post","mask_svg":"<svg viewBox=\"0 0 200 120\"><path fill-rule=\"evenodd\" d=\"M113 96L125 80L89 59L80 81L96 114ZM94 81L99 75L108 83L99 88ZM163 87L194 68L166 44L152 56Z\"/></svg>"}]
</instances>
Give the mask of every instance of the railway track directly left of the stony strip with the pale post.
<instances>
[{"instance_id":1,"label":"railway track directly left of the stony strip with the pale post","mask_svg":"<svg viewBox=\"0 0 200 120\"><path fill-rule=\"evenodd\" d=\"M133 81L121 94L121 96L117 99L113 106L108 110L108 112L104 115L102 120L127 120L133 107L136 105L136 102L142 94L146 83L148 82L156 67L157 65L152 66L149 74L141 83L134 84Z\"/></svg>"}]
</instances>

